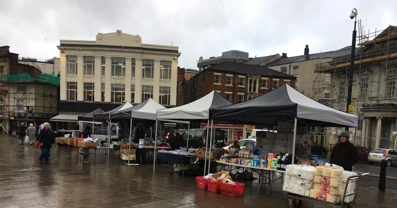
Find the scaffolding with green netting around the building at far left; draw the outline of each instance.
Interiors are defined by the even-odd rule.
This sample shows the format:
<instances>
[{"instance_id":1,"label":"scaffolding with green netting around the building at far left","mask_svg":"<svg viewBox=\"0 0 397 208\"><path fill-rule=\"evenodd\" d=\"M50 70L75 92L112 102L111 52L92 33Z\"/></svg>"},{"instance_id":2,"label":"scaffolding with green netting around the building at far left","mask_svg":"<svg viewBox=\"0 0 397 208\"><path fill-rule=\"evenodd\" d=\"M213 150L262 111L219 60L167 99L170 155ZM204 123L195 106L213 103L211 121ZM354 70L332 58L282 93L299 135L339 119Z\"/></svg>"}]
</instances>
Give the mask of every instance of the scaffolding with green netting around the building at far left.
<instances>
[{"instance_id":1,"label":"scaffolding with green netting around the building at far left","mask_svg":"<svg viewBox=\"0 0 397 208\"><path fill-rule=\"evenodd\" d=\"M0 74L0 130L11 122L40 124L57 115L60 77L52 74Z\"/></svg>"}]
</instances>

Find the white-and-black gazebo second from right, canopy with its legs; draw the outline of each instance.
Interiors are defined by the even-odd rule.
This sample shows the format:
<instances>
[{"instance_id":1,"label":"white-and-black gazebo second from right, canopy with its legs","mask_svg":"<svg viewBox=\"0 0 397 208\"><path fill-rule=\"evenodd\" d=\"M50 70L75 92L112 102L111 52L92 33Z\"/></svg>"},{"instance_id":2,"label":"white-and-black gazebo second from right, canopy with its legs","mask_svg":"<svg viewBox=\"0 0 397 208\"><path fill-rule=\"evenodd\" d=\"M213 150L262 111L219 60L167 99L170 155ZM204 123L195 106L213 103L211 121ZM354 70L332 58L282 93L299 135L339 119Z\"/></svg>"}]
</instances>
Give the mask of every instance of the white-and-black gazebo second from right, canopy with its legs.
<instances>
[{"instance_id":1,"label":"white-and-black gazebo second from right, canopy with its legs","mask_svg":"<svg viewBox=\"0 0 397 208\"><path fill-rule=\"evenodd\" d=\"M217 107L227 106L227 105L231 105L231 104L233 104L233 103L231 103L230 101L225 99L222 95L220 95L218 92L213 90L212 92L205 95L204 97L201 97L200 99L195 100L191 103L187 103L185 105L181 105L181 106L174 107L174 108L158 110L156 118L158 120L174 119L174 120L207 122L207 124L209 126L209 124L210 124L210 110L217 108ZM211 126L212 126L212 124L213 123L211 123ZM212 137L213 137L212 131L213 131L213 128L211 128L211 132L207 131L207 135L206 135L206 148L205 148L206 152L205 152L204 173L206 170L208 149L211 154L211 145L212 145L211 143L212 143ZM209 134L209 132L210 132L211 138L210 138L210 145L208 148L208 134ZM188 135L189 135L189 132L188 132ZM153 172L154 172L154 167L153 167Z\"/></svg>"}]
</instances>

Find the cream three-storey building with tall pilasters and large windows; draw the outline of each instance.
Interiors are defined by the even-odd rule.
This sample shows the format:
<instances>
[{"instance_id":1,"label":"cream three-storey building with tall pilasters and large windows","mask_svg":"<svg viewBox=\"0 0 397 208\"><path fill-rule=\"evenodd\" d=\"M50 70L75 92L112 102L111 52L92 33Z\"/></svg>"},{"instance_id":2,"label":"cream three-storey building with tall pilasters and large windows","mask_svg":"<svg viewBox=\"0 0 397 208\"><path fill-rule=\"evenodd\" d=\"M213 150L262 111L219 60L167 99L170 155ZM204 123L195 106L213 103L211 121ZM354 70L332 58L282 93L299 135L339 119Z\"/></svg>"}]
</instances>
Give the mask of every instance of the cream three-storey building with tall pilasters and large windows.
<instances>
[{"instance_id":1,"label":"cream three-storey building with tall pilasters and large windows","mask_svg":"<svg viewBox=\"0 0 397 208\"><path fill-rule=\"evenodd\" d=\"M139 35L117 30L98 33L95 41L60 40L58 49L61 102L141 103L152 97L176 104L177 46L143 44Z\"/></svg>"}]
</instances>

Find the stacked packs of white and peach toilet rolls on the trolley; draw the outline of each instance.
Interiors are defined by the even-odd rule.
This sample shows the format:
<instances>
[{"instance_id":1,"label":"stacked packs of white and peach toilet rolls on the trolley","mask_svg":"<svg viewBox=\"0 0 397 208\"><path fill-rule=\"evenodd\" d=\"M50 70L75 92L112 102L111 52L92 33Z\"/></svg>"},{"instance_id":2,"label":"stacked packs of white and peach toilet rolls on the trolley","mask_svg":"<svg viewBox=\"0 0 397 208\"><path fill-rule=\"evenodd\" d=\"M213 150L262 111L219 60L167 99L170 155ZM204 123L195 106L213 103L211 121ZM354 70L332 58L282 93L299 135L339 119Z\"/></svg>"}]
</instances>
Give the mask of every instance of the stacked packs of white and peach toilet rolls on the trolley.
<instances>
[{"instance_id":1,"label":"stacked packs of white and peach toilet rolls on the trolley","mask_svg":"<svg viewBox=\"0 0 397 208\"><path fill-rule=\"evenodd\" d=\"M325 163L325 166L308 166L302 164L287 165L283 191L317 198L327 202L340 202L341 195L353 193L355 180L347 179L357 173L343 170L341 166ZM345 197L344 202L352 202L354 195Z\"/></svg>"}]
</instances>

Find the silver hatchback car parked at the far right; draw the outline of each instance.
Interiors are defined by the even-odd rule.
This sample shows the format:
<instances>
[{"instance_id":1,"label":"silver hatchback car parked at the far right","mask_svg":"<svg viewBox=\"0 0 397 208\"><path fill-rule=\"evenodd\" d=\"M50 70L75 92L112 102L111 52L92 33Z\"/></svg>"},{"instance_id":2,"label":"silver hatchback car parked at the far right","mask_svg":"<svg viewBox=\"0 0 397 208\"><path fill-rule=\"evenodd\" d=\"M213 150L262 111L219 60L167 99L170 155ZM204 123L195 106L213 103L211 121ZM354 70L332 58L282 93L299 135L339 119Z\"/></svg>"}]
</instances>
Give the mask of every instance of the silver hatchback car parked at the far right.
<instances>
[{"instance_id":1,"label":"silver hatchback car parked at the far right","mask_svg":"<svg viewBox=\"0 0 397 208\"><path fill-rule=\"evenodd\" d=\"M380 163L386 159L387 167L397 165L397 149L372 149L368 154L368 163Z\"/></svg>"}]
</instances>

